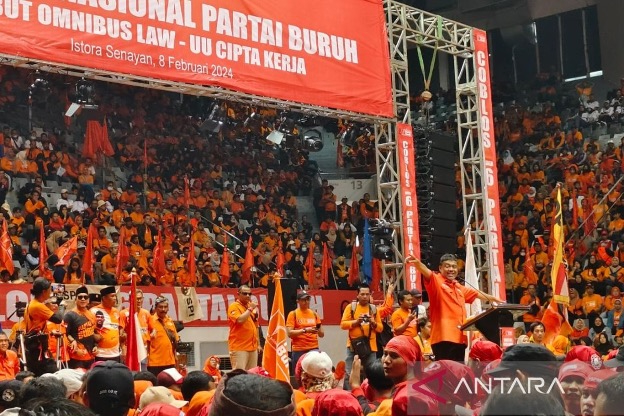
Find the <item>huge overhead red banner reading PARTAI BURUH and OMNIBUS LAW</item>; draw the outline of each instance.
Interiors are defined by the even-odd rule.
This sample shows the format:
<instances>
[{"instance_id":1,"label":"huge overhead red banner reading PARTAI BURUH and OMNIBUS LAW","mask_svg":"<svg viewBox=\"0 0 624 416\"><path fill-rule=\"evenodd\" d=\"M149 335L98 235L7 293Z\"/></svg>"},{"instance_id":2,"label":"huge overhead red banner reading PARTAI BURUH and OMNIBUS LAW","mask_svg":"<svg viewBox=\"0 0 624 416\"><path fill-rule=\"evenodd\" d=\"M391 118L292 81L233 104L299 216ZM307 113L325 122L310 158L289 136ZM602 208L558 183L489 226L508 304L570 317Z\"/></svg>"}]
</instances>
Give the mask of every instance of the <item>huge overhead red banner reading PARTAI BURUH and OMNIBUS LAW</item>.
<instances>
[{"instance_id":1,"label":"huge overhead red banner reading PARTAI BURUH and OMNIBUS LAW","mask_svg":"<svg viewBox=\"0 0 624 416\"><path fill-rule=\"evenodd\" d=\"M0 50L392 116L381 0L5 1Z\"/></svg>"}]
</instances>

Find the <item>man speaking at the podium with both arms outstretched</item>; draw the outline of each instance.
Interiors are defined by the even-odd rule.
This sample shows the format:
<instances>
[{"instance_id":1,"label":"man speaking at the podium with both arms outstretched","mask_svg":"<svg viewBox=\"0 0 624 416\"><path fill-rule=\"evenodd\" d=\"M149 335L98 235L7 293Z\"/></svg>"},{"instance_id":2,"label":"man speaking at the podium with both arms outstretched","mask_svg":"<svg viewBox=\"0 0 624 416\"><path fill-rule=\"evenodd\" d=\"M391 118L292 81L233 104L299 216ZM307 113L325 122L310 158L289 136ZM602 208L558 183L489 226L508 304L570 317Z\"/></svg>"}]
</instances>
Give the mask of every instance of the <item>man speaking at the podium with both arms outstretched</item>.
<instances>
[{"instance_id":1,"label":"man speaking at the podium with both arms outstretched","mask_svg":"<svg viewBox=\"0 0 624 416\"><path fill-rule=\"evenodd\" d=\"M431 348L436 359L463 362L467 339L459 326L466 320L465 305L477 299L498 303L502 301L476 288L458 283L457 258L452 254L445 254L440 258L439 272L431 271L417 258L407 258L406 261L416 265L429 294Z\"/></svg>"}]
</instances>

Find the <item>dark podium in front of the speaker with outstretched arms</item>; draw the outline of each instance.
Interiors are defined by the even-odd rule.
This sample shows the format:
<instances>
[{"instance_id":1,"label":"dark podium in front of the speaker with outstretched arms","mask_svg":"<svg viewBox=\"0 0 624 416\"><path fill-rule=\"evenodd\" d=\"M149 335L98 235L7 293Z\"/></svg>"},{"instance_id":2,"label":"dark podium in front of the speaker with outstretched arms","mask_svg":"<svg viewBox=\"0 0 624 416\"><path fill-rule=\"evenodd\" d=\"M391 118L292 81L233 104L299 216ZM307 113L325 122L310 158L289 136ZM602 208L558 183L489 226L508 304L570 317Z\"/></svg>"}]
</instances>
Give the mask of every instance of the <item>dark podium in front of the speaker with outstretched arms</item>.
<instances>
[{"instance_id":1,"label":"dark podium in front of the speaker with outstretched arms","mask_svg":"<svg viewBox=\"0 0 624 416\"><path fill-rule=\"evenodd\" d=\"M528 305L502 304L473 316L460 327L462 331L479 331L488 341L500 345L500 328L512 327L516 319L531 310Z\"/></svg>"}]
</instances>

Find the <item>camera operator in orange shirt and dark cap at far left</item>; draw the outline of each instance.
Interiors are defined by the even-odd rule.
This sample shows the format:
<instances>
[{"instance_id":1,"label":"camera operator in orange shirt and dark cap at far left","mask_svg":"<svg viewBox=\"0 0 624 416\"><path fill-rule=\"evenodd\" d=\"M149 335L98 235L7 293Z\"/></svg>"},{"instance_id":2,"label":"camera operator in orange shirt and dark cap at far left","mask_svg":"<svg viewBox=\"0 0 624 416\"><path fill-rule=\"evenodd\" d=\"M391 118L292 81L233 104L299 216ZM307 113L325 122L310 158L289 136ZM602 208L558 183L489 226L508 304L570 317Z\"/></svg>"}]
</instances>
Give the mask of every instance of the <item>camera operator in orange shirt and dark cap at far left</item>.
<instances>
[{"instance_id":1,"label":"camera operator in orange shirt and dark cap at far left","mask_svg":"<svg viewBox=\"0 0 624 416\"><path fill-rule=\"evenodd\" d=\"M24 345L26 366L38 377L57 370L48 350L47 322L60 324L63 313L59 310L58 303L55 303L56 299L50 298L52 285L43 277L35 279L30 293L34 298L26 306L24 313L26 331Z\"/></svg>"}]
</instances>

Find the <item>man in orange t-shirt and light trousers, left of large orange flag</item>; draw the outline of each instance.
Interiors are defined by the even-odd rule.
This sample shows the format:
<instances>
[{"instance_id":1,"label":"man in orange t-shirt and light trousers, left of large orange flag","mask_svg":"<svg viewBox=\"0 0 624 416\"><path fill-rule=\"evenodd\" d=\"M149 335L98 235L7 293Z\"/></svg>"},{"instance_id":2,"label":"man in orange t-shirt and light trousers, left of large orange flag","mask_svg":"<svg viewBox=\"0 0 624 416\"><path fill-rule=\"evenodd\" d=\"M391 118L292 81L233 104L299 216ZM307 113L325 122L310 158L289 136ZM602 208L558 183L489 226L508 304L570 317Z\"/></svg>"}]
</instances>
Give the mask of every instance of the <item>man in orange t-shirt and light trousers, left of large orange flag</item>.
<instances>
[{"instance_id":1,"label":"man in orange t-shirt and light trousers, left of large orange flag","mask_svg":"<svg viewBox=\"0 0 624 416\"><path fill-rule=\"evenodd\" d=\"M249 370L258 365L258 315L258 305L251 300L251 288L239 287L238 299L228 307L228 349L233 370Z\"/></svg>"}]
</instances>

